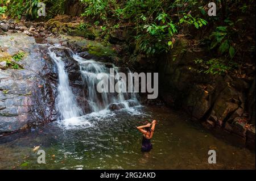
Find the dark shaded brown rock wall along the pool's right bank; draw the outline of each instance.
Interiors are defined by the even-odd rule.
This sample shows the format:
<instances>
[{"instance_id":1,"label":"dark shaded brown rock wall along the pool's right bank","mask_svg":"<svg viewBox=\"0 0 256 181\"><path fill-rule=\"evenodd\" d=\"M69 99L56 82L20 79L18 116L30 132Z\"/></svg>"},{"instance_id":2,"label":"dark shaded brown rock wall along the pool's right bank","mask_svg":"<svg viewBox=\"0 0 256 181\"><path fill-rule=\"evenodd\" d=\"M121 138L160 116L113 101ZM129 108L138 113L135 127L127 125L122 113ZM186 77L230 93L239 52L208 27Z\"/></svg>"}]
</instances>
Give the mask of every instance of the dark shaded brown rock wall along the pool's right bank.
<instances>
[{"instance_id":1,"label":"dark shaded brown rock wall along the pool's right bank","mask_svg":"<svg viewBox=\"0 0 256 181\"><path fill-rule=\"evenodd\" d=\"M160 96L205 127L226 131L255 149L254 71L246 78L200 73L194 60L207 56L204 49L191 48L188 40L178 40L159 60Z\"/></svg>"}]
</instances>

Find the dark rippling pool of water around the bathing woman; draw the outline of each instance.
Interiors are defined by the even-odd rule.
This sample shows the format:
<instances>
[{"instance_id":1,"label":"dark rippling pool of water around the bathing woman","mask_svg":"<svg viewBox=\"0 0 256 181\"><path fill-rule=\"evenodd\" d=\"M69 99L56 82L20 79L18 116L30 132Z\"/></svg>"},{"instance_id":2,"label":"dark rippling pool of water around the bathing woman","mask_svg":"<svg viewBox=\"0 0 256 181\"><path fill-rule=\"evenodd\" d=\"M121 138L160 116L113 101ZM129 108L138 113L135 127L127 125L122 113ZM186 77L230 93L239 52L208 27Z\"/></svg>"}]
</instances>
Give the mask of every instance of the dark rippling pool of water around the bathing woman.
<instances>
[{"instance_id":1,"label":"dark rippling pool of water around the bathing woman","mask_svg":"<svg viewBox=\"0 0 256 181\"><path fill-rule=\"evenodd\" d=\"M153 149L141 152L144 120L158 120ZM37 163L35 146L46 151ZM216 150L217 163L208 163ZM255 153L214 137L166 107L94 113L0 137L0 169L255 169Z\"/></svg>"}]
</instances>

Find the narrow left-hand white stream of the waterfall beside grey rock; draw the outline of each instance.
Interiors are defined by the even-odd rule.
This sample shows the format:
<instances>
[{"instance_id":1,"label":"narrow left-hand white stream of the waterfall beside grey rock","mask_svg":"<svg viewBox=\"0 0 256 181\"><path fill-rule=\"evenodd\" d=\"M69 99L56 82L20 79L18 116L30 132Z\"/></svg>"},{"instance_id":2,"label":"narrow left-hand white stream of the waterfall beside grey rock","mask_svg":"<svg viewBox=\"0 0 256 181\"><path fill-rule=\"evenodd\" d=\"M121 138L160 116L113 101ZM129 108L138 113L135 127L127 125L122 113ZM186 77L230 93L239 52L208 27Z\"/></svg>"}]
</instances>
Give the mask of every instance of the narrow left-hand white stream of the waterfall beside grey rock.
<instances>
[{"instance_id":1,"label":"narrow left-hand white stream of the waterfall beside grey rock","mask_svg":"<svg viewBox=\"0 0 256 181\"><path fill-rule=\"evenodd\" d=\"M56 110L60 113L60 120L70 119L82 115L81 108L77 105L75 95L69 86L68 73L65 64L54 52L55 47L49 47L49 56L57 65L58 69L58 95L56 99Z\"/></svg>"}]
</instances>

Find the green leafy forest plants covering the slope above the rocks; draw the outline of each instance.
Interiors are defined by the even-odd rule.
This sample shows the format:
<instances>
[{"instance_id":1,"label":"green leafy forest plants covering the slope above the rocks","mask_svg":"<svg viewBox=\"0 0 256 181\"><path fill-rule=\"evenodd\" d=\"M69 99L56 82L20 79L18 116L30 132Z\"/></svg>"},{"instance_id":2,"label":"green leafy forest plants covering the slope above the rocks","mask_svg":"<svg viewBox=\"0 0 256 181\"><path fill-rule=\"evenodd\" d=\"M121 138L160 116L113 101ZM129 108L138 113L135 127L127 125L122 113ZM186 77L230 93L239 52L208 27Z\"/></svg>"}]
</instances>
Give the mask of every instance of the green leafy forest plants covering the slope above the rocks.
<instances>
[{"instance_id":1,"label":"green leafy forest plants covering the slope above the rocks","mask_svg":"<svg viewBox=\"0 0 256 181\"><path fill-rule=\"evenodd\" d=\"M46 3L46 17L38 16L38 3ZM79 26L100 27L89 39L114 41L112 33L126 29L131 54L148 60L172 49L180 36L196 40L209 51L208 60L195 60L206 74L241 74L244 64L255 59L255 1L214 1L217 16L208 16L208 3L197 0L117 1L117 0L1 0L0 14L11 18L46 21L68 14L84 20ZM127 31L128 30L128 31Z\"/></svg>"}]
</instances>

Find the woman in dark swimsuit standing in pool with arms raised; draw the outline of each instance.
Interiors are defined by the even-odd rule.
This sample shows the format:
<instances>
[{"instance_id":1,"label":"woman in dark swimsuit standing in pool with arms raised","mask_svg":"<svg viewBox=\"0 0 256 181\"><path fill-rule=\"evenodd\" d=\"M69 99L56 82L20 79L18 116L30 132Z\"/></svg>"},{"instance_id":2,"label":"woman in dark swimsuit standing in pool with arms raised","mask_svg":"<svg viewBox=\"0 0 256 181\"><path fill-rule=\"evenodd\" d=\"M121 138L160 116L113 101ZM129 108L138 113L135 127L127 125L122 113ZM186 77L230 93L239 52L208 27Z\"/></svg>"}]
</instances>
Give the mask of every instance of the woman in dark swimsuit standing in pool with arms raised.
<instances>
[{"instance_id":1,"label":"woman in dark swimsuit standing in pool with arms raised","mask_svg":"<svg viewBox=\"0 0 256 181\"><path fill-rule=\"evenodd\" d=\"M156 120L153 120L152 123L149 123L148 121L146 121L146 124L140 127L137 127L137 129L143 133L143 137L142 137L142 151L150 151L152 149L152 144L150 142L154 131L155 131L155 124L156 124ZM152 125L152 127L151 127Z\"/></svg>"}]
</instances>

